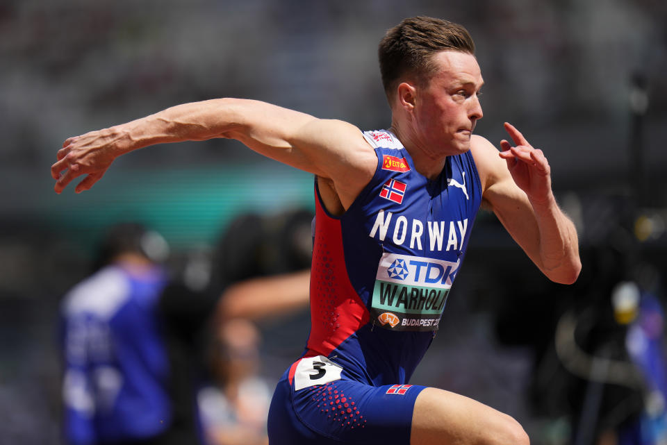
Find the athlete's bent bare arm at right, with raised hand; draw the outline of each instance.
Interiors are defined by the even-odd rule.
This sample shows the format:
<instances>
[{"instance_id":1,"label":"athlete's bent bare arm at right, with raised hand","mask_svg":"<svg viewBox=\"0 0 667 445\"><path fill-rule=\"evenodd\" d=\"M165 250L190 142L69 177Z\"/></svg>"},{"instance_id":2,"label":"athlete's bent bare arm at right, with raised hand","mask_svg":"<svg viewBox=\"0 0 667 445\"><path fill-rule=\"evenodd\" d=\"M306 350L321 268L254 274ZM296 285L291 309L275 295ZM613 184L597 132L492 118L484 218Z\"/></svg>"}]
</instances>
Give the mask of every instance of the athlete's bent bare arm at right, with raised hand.
<instances>
[{"instance_id":1,"label":"athlete's bent bare arm at right, with raised hand","mask_svg":"<svg viewBox=\"0 0 667 445\"><path fill-rule=\"evenodd\" d=\"M516 128L505 129L516 146L502 141L500 156L484 138L472 142L484 201L543 274L574 283L582 267L577 230L554 198L549 163Z\"/></svg>"}]
</instances>

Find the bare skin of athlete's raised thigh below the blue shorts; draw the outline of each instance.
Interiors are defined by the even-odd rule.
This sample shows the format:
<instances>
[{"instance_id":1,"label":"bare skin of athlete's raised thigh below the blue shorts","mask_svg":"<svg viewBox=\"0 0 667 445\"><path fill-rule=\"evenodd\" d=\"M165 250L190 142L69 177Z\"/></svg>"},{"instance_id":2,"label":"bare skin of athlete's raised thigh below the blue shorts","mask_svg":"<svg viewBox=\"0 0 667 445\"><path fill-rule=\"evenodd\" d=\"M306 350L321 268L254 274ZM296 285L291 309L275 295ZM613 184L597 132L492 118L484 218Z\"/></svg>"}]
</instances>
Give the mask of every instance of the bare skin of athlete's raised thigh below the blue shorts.
<instances>
[{"instance_id":1,"label":"bare skin of athlete's raised thigh below the blue shorts","mask_svg":"<svg viewBox=\"0 0 667 445\"><path fill-rule=\"evenodd\" d=\"M529 443L512 417L459 394L426 388L415 400L411 445Z\"/></svg>"}]
</instances>

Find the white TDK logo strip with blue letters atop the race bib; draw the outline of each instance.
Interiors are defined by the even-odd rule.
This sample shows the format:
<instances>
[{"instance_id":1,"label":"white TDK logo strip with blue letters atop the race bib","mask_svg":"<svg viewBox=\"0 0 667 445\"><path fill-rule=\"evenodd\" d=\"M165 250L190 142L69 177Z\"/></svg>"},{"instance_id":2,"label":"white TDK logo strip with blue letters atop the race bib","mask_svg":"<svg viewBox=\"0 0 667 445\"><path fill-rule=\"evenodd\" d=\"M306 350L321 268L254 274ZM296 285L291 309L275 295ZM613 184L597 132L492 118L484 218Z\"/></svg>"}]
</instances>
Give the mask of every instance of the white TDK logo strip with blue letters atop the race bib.
<instances>
[{"instance_id":1,"label":"white TDK logo strip with blue letters atop the race bib","mask_svg":"<svg viewBox=\"0 0 667 445\"><path fill-rule=\"evenodd\" d=\"M384 253L377 271L377 279L405 285L449 289L458 269L458 261Z\"/></svg>"}]
</instances>

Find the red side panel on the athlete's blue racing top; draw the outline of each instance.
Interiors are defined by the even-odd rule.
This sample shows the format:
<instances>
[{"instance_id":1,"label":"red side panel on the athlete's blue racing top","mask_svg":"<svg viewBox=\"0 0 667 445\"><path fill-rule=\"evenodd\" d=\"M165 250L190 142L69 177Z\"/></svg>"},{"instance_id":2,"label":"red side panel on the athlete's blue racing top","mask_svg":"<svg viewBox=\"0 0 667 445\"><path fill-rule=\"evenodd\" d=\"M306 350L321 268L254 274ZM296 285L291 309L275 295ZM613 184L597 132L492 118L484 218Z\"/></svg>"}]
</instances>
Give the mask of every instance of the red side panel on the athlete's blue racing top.
<instances>
[{"instance_id":1,"label":"red side panel on the athlete's blue racing top","mask_svg":"<svg viewBox=\"0 0 667 445\"><path fill-rule=\"evenodd\" d=\"M317 190L315 208L308 349L328 356L368 323L369 314L347 276L340 221L327 215Z\"/></svg>"}]
</instances>

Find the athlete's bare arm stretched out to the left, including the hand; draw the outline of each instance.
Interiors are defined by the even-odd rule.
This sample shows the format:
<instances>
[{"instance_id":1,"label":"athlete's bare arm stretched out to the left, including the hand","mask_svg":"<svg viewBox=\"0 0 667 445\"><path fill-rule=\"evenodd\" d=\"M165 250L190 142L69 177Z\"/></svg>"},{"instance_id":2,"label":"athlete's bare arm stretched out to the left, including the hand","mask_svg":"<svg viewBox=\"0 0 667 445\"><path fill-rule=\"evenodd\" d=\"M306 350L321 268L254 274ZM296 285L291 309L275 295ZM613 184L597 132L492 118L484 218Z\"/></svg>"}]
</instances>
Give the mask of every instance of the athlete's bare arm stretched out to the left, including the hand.
<instances>
[{"instance_id":1,"label":"athlete's bare arm stretched out to the left, including the hand","mask_svg":"<svg viewBox=\"0 0 667 445\"><path fill-rule=\"evenodd\" d=\"M51 167L55 190L62 192L81 175L87 176L76 192L90 189L115 158L129 151L215 137L239 140L264 156L333 180L344 205L354 200L377 165L374 152L352 124L261 101L213 99L70 137Z\"/></svg>"}]
</instances>

